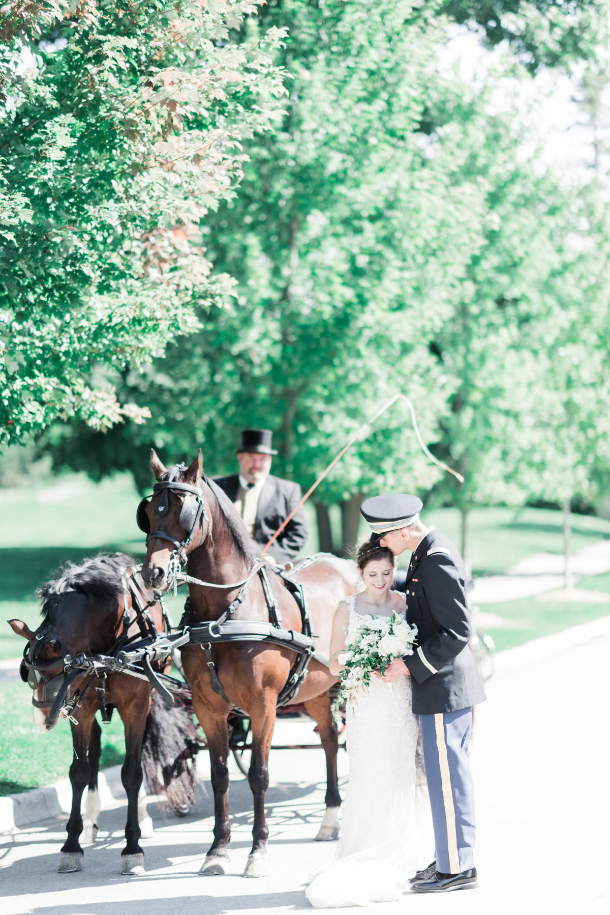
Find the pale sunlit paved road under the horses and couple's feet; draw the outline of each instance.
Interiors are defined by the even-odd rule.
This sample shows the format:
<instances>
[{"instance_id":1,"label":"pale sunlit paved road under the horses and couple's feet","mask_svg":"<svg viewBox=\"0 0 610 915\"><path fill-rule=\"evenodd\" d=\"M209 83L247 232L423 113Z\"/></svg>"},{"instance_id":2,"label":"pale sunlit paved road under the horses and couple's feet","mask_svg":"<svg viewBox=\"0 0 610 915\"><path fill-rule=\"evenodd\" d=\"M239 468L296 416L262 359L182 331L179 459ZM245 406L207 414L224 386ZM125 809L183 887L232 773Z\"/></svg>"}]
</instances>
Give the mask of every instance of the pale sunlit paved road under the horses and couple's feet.
<instances>
[{"instance_id":1,"label":"pale sunlit paved road under the horses and couple's feet","mask_svg":"<svg viewBox=\"0 0 610 915\"><path fill-rule=\"evenodd\" d=\"M610 910L607 862L610 785L606 737L610 637L540 662L498 673L476 722L473 770L478 807L479 888L441 898L406 894L370 907L376 915L597 915ZM308 724L284 727L310 731ZM282 739L285 738L285 731ZM341 760L347 772L345 754ZM4 915L224 915L248 910L278 915L312 911L307 874L332 854L312 841L323 809L321 752L276 752L269 819L273 876L240 874L250 847L251 802L245 780L231 787L231 870L198 877L210 841L211 799L177 821L151 802L155 838L146 840L146 874L121 877L123 803L102 812L101 833L78 874L55 871L63 821L45 821L5 836L0 846Z\"/></svg>"}]
</instances>

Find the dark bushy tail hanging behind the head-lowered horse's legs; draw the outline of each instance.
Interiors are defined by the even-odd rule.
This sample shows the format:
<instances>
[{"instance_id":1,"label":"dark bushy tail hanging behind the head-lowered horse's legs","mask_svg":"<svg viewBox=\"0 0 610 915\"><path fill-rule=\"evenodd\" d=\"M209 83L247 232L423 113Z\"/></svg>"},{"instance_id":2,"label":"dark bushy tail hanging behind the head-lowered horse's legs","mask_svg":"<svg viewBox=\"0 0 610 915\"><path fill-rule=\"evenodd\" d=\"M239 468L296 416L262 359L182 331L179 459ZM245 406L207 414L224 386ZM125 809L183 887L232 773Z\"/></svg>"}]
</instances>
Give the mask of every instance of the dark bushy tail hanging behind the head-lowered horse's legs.
<instances>
[{"instance_id":1,"label":"dark bushy tail hanging behind the head-lowered horse's legs","mask_svg":"<svg viewBox=\"0 0 610 915\"><path fill-rule=\"evenodd\" d=\"M195 758L202 747L190 698L174 694L174 704L166 705L154 692L142 745L144 782L149 794L165 792L177 816L186 816L195 802Z\"/></svg>"}]
</instances>

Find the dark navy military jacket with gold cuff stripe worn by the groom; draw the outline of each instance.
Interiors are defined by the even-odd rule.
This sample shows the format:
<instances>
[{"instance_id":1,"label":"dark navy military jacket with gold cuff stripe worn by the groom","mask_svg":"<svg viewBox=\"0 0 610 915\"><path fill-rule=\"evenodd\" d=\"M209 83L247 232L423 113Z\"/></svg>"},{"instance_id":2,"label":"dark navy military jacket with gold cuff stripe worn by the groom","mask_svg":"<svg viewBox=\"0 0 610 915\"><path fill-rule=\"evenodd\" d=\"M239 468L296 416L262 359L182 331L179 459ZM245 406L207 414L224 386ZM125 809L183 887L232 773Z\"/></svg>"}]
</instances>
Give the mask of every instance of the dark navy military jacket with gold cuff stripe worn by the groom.
<instances>
[{"instance_id":1,"label":"dark navy military jacket with gold cuff stripe worn by the groom","mask_svg":"<svg viewBox=\"0 0 610 915\"><path fill-rule=\"evenodd\" d=\"M412 554L407 573L407 620L417 626L409 668L415 715L456 712L486 699L470 650L466 568L454 544L435 529Z\"/></svg>"}]
</instances>

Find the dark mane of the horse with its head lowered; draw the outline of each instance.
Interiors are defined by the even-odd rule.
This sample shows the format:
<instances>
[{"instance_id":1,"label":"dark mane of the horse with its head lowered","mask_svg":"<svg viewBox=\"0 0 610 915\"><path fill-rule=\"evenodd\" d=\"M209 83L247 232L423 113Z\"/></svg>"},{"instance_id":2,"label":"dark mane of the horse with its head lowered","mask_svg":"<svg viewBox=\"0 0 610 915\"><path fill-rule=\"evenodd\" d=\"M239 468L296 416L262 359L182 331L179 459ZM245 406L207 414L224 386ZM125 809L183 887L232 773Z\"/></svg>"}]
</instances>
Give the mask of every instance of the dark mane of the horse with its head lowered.
<instances>
[{"instance_id":1,"label":"dark mane of the horse with its head lowered","mask_svg":"<svg viewBox=\"0 0 610 915\"><path fill-rule=\"evenodd\" d=\"M100 553L84 563L66 563L59 575L37 588L36 595L43 602L41 616L51 618L58 607L57 597L68 591L80 591L85 597L108 600L123 594L121 571L137 565L126 553Z\"/></svg>"}]
</instances>

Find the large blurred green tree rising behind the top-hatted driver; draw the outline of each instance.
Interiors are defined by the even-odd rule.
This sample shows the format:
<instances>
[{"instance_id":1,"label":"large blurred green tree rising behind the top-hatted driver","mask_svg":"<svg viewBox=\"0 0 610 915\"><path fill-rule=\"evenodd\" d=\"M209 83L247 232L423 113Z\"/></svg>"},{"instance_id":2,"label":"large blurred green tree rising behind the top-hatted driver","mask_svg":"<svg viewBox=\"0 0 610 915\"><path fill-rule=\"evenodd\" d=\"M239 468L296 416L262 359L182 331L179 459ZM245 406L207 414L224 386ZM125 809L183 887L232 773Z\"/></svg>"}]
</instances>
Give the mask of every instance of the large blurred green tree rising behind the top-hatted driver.
<instances>
[{"instance_id":1,"label":"large blurred green tree rising behind the top-hatted driver","mask_svg":"<svg viewBox=\"0 0 610 915\"><path fill-rule=\"evenodd\" d=\"M163 367L127 379L129 397L154 414L132 430L142 452L151 433L180 456L201 442L222 468L241 426L271 423L280 472L307 486L405 378L422 398L424 429L433 428L444 382L427 377L426 338L477 229L473 189L455 188L448 163L422 149L438 35L403 29L410 8L385 2L365 16L359 5L296 0L262 15L262 29L292 25L277 61L290 74L284 122L273 139L252 138L239 193L206 227L238 296L202 316L201 331L171 347ZM320 497L348 501L389 481L428 485L435 473L397 412Z\"/></svg>"}]
</instances>

